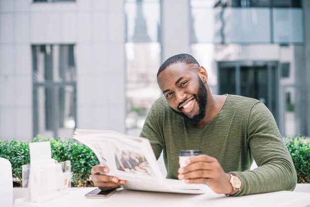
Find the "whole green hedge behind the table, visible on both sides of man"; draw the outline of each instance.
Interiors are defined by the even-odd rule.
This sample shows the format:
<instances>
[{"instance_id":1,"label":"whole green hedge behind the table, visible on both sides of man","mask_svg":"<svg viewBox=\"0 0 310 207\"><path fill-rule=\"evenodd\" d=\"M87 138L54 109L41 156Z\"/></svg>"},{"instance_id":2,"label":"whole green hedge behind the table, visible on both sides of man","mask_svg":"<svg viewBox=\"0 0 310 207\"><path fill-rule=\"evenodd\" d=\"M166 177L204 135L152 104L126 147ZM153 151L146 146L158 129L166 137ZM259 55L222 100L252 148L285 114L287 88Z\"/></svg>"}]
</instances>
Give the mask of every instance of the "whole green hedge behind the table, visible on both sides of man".
<instances>
[{"instance_id":1,"label":"whole green hedge behind the table, visible on both sides of man","mask_svg":"<svg viewBox=\"0 0 310 207\"><path fill-rule=\"evenodd\" d=\"M58 162L71 161L72 187L93 186L91 168L99 161L88 147L70 139L34 138L30 142L42 141L51 142L52 158ZM295 164L298 183L310 183L310 141L303 136L287 137L285 143ZM30 162L28 142L0 140L0 157L11 162L14 187L20 187L18 181L21 181L21 166Z\"/></svg>"}]
</instances>

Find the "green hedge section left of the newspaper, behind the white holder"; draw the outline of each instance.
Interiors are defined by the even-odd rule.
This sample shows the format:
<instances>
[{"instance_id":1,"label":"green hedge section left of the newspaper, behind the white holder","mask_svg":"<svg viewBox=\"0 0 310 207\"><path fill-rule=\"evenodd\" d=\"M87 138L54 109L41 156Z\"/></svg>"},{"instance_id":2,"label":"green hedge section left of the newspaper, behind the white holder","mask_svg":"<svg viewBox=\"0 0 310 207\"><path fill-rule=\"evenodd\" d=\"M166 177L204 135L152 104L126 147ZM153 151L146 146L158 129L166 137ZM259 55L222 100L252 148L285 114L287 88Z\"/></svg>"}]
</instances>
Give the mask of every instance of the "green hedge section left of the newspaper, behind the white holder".
<instances>
[{"instance_id":1,"label":"green hedge section left of the newspaper, behind the white holder","mask_svg":"<svg viewBox=\"0 0 310 207\"><path fill-rule=\"evenodd\" d=\"M70 139L34 138L30 142L51 142L52 158L58 162L71 161L71 186L94 186L90 179L91 168L99 163L96 155L85 145ZM8 159L12 164L14 187L21 187L21 166L29 164L29 146L24 141L0 140L0 157Z\"/></svg>"}]
</instances>

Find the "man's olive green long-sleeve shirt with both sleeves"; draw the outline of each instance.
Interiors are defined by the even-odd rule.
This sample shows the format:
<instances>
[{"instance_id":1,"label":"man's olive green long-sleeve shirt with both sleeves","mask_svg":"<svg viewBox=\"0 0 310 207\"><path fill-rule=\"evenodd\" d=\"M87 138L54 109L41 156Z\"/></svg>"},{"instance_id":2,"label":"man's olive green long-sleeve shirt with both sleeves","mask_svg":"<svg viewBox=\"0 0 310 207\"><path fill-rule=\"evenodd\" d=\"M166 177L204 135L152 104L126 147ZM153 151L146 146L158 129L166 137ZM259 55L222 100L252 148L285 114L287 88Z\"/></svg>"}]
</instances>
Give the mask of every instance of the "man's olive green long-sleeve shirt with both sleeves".
<instances>
[{"instance_id":1,"label":"man's olive green long-sleeve shirt with both sleeves","mask_svg":"<svg viewBox=\"0 0 310 207\"><path fill-rule=\"evenodd\" d=\"M174 113L162 96L152 105L140 136L150 140L157 159L163 151L167 178L177 179L180 150L202 150L241 179L236 196L296 186L294 164L274 118L255 99L227 95L217 115L198 128ZM258 168L251 171L253 159Z\"/></svg>"}]
</instances>

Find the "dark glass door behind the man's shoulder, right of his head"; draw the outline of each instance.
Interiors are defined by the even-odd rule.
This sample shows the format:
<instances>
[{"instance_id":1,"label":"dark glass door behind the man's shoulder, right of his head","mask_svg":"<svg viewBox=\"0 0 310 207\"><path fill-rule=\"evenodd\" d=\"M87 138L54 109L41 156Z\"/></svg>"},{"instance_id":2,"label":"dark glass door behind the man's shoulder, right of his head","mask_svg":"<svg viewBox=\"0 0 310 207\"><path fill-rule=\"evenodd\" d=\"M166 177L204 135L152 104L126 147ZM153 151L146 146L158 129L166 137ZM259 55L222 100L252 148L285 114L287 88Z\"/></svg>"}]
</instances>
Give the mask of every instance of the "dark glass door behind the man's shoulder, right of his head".
<instances>
[{"instance_id":1,"label":"dark glass door behind the man's shoulder, right of his head","mask_svg":"<svg viewBox=\"0 0 310 207\"><path fill-rule=\"evenodd\" d=\"M219 94L257 99L278 121L277 65L276 61L218 62Z\"/></svg>"}]
</instances>

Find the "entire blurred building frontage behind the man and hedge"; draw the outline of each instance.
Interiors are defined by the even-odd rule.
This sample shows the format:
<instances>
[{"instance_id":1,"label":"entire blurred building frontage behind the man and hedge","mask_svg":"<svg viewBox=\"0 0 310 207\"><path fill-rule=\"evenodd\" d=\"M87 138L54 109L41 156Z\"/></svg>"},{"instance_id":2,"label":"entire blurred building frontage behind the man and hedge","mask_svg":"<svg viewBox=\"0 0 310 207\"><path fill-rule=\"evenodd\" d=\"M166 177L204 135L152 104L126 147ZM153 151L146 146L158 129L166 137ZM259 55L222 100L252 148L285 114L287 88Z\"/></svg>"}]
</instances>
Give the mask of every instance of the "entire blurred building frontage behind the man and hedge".
<instances>
[{"instance_id":1,"label":"entire blurred building frontage behind the man and hedge","mask_svg":"<svg viewBox=\"0 0 310 207\"><path fill-rule=\"evenodd\" d=\"M161 62L190 53L215 94L310 136L308 0L0 0L0 139L139 135Z\"/></svg>"}]
</instances>

